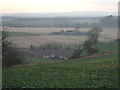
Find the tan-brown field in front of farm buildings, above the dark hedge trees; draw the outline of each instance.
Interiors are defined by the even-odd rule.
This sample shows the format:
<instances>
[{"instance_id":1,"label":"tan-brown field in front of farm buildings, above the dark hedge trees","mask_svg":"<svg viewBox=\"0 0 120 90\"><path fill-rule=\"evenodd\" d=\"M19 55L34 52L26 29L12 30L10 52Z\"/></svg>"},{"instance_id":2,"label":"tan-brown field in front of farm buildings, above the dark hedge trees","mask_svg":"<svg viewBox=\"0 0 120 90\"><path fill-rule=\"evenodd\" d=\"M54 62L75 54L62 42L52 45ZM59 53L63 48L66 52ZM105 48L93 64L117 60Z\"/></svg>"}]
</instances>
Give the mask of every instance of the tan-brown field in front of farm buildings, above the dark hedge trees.
<instances>
[{"instance_id":1,"label":"tan-brown field in front of farm buildings, above the dark hedge trees","mask_svg":"<svg viewBox=\"0 0 120 90\"><path fill-rule=\"evenodd\" d=\"M42 35L42 36L22 36L22 37L10 37L18 46L28 47L32 45L44 45L47 43L56 44L75 44L83 43L86 40L86 36L65 36L65 35Z\"/></svg>"}]
</instances>

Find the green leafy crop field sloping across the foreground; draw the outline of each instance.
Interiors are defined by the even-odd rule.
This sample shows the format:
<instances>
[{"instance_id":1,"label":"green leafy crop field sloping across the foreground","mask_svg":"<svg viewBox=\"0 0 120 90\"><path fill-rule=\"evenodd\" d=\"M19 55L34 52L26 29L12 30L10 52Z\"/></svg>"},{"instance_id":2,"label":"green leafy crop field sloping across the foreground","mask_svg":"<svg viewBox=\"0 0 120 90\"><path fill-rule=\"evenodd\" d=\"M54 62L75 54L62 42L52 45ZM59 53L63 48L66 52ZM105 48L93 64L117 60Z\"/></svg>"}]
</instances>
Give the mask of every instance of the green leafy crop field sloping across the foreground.
<instances>
[{"instance_id":1,"label":"green leafy crop field sloping across the foreground","mask_svg":"<svg viewBox=\"0 0 120 90\"><path fill-rule=\"evenodd\" d=\"M118 88L117 43L100 43L98 48L113 53L3 69L3 88Z\"/></svg>"}]
</instances>

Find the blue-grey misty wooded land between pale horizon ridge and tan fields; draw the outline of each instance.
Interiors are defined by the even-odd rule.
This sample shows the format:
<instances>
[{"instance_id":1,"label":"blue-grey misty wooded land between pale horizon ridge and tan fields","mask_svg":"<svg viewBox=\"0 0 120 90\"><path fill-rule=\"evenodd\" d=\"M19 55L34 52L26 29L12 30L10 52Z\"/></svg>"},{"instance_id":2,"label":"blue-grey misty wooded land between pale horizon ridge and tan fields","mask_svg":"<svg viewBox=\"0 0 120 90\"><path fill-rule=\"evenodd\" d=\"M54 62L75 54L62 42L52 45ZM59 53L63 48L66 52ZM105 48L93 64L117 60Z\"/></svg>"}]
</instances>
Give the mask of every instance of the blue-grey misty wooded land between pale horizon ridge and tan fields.
<instances>
[{"instance_id":1,"label":"blue-grey misty wooded land between pale horizon ridge and tan fields","mask_svg":"<svg viewBox=\"0 0 120 90\"><path fill-rule=\"evenodd\" d=\"M67 15L63 14L63 15ZM8 16L7 16L8 15ZM41 17L41 14L7 14L6 16L2 16L3 26L11 26L11 27L81 27L81 28L91 28L93 26L102 26L102 27L117 27L117 20L118 17L114 15L106 15L106 16L90 16L89 17L82 17L72 15L72 13L69 16L64 16L58 14L46 14L46 17ZM10 16L11 15L11 16ZM12 16L13 15L13 16ZM23 15L23 16L22 16ZM25 15L28 15L25 16ZM30 15L33 15L30 17ZM38 15L39 17L35 17L35 15ZM51 15L51 16L50 16ZM53 17L52 15L56 15L56 17ZM75 14L74 14L75 15ZM47 17L48 16L48 17Z\"/></svg>"}]
</instances>

